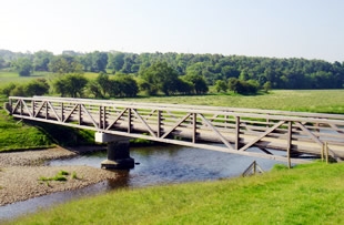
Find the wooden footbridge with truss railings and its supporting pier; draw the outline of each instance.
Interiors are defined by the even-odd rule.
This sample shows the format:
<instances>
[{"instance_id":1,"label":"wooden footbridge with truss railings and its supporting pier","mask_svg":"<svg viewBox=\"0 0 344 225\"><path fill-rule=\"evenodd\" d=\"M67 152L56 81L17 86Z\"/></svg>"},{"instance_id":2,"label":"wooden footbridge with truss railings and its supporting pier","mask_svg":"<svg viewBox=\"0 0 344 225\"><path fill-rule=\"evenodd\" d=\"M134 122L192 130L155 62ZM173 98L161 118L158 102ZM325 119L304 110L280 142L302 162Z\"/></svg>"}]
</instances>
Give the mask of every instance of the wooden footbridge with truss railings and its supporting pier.
<instances>
[{"instance_id":1,"label":"wooden footbridge with truss railings and its supporting pier","mask_svg":"<svg viewBox=\"0 0 344 225\"><path fill-rule=\"evenodd\" d=\"M90 99L10 96L22 120L95 131L102 167L132 167L129 139L301 163L302 154L344 158L344 115Z\"/></svg>"}]
</instances>

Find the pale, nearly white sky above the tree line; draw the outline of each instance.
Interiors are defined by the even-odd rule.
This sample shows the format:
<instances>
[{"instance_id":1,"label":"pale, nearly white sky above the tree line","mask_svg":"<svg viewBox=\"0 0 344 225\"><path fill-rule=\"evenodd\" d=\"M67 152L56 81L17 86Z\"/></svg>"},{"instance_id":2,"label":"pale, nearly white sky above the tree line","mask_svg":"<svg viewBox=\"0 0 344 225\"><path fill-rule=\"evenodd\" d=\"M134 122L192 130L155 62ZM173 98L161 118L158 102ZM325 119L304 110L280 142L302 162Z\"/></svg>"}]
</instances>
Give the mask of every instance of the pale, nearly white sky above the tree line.
<instances>
[{"instance_id":1,"label":"pale, nearly white sky above the tree line","mask_svg":"<svg viewBox=\"0 0 344 225\"><path fill-rule=\"evenodd\" d=\"M0 49L344 61L344 0L0 0Z\"/></svg>"}]
</instances>

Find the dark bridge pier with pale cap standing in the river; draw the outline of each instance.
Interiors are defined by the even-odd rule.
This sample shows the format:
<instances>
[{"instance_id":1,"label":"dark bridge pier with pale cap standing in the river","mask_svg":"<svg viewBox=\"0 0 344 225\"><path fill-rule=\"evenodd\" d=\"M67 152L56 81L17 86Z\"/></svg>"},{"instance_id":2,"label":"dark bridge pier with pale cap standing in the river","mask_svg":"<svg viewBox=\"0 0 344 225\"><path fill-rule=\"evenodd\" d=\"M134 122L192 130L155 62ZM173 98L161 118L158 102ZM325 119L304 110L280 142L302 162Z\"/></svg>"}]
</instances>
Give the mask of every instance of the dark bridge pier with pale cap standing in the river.
<instances>
[{"instance_id":1,"label":"dark bridge pier with pale cap standing in the river","mask_svg":"<svg viewBox=\"0 0 344 225\"><path fill-rule=\"evenodd\" d=\"M102 168L127 170L134 167L134 158L130 157L129 137L95 133L95 142L108 143L108 160L101 163Z\"/></svg>"}]
</instances>

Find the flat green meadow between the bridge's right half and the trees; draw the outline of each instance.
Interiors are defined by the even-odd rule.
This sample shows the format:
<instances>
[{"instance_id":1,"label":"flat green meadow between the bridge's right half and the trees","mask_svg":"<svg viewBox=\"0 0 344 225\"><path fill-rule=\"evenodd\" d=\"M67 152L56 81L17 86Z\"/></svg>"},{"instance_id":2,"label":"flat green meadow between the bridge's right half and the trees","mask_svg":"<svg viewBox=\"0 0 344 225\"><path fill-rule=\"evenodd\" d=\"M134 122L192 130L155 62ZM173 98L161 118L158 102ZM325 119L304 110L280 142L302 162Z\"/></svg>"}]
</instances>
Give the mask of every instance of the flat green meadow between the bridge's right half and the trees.
<instances>
[{"instance_id":1,"label":"flat green meadow between the bridge's right half and the trees","mask_svg":"<svg viewBox=\"0 0 344 225\"><path fill-rule=\"evenodd\" d=\"M269 94L134 98L127 101L300 112L344 113L344 90L273 90Z\"/></svg>"}]
</instances>

